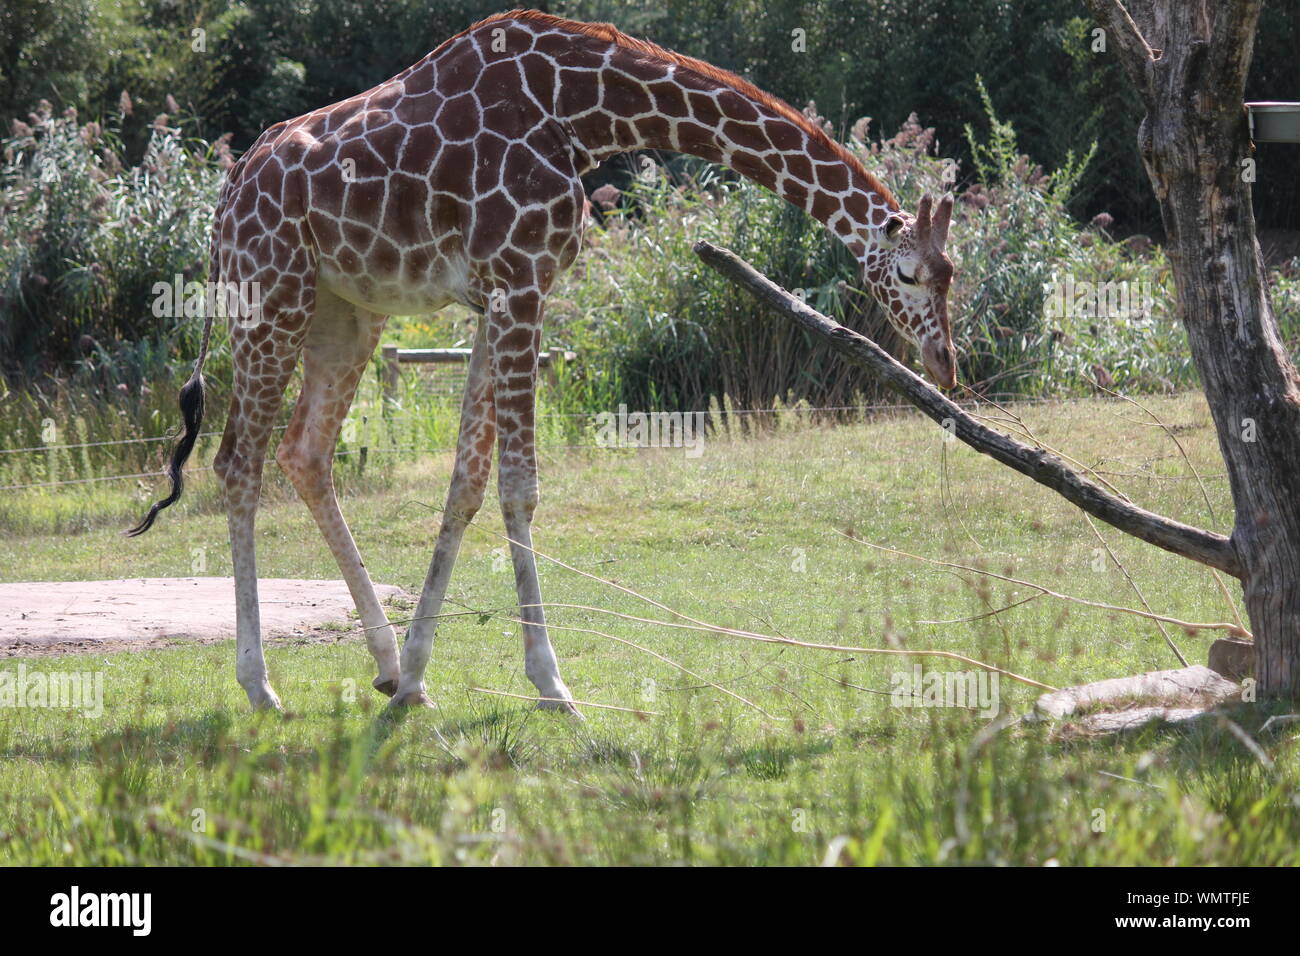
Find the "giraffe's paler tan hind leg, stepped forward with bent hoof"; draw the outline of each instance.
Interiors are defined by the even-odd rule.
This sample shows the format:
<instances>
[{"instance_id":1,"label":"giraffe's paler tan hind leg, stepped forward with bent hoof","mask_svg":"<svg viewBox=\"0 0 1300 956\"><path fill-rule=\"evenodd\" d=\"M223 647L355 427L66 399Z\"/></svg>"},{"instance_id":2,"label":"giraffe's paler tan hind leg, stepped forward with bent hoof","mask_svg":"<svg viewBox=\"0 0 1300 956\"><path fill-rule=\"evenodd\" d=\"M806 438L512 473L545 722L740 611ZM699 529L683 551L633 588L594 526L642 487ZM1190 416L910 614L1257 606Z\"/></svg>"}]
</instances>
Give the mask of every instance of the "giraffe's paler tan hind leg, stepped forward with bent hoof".
<instances>
[{"instance_id":1,"label":"giraffe's paler tan hind leg, stepped forward with bent hoof","mask_svg":"<svg viewBox=\"0 0 1300 956\"><path fill-rule=\"evenodd\" d=\"M386 316L320 290L303 343L303 388L276 460L307 503L352 594L365 644L378 666L376 689L398 688L398 641L334 493L334 446L365 373Z\"/></svg>"}]
</instances>

